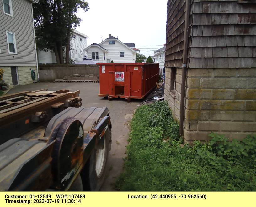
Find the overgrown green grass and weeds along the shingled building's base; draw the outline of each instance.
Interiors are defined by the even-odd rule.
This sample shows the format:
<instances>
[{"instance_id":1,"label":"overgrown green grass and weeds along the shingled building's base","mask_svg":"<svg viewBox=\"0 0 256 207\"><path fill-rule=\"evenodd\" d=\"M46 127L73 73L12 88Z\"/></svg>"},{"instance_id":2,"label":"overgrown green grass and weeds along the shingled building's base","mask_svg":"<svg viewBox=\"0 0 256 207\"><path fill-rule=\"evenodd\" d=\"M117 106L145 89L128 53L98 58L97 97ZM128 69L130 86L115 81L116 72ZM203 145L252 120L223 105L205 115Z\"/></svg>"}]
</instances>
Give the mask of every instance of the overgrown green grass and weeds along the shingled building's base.
<instances>
[{"instance_id":1,"label":"overgrown green grass and weeds along the shingled building's base","mask_svg":"<svg viewBox=\"0 0 256 207\"><path fill-rule=\"evenodd\" d=\"M255 191L256 136L183 146L165 101L139 107L131 121L122 191Z\"/></svg>"}]
</instances>

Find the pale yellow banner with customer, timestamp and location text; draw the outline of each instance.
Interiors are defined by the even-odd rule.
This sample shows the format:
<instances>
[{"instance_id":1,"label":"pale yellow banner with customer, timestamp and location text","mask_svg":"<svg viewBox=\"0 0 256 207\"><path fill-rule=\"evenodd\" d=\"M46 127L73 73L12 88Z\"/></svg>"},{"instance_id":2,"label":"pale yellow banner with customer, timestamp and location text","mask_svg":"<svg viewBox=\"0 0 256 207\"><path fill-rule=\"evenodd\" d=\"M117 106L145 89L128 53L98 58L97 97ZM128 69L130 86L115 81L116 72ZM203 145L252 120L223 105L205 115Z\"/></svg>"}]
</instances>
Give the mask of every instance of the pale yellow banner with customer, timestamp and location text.
<instances>
[{"instance_id":1,"label":"pale yellow banner with customer, timestamp and location text","mask_svg":"<svg viewBox=\"0 0 256 207\"><path fill-rule=\"evenodd\" d=\"M256 192L0 192L1 206L255 206Z\"/></svg>"}]
</instances>

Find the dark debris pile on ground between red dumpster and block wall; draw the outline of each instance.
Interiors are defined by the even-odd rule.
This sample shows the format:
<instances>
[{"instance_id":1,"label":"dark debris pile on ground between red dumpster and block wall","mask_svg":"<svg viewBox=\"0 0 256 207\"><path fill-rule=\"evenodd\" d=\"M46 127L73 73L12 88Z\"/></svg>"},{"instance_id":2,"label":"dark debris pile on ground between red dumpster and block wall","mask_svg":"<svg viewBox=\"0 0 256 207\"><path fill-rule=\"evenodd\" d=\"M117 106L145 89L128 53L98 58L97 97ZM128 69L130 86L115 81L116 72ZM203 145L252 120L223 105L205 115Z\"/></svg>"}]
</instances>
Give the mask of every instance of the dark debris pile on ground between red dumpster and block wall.
<instances>
[{"instance_id":1,"label":"dark debris pile on ground between red dumpster and block wall","mask_svg":"<svg viewBox=\"0 0 256 207\"><path fill-rule=\"evenodd\" d=\"M145 105L148 103L152 103L154 101L162 101L164 100L164 82L161 83L160 85L157 84L159 88L155 88L151 93L147 95L147 97L139 103L138 106Z\"/></svg>"}]
</instances>

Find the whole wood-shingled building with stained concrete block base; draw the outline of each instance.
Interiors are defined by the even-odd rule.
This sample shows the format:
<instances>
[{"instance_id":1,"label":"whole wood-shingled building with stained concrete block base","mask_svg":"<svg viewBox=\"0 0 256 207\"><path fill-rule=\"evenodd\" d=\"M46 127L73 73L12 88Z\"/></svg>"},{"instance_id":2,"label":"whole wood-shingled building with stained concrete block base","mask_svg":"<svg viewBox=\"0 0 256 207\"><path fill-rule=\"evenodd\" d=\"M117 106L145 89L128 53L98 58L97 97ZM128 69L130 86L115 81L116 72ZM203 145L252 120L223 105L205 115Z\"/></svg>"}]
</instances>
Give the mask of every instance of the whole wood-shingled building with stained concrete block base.
<instances>
[{"instance_id":1,"label":"whole wood-shingled building with stained concrete block base","mask_svg":"<svg viewBox=\"0 0 256 207\"><path fill-rule=\"evenodd\" d=\"M256 1L168 0L165 68L186 143L256 134Z\"/></svg>"}]
</instances>

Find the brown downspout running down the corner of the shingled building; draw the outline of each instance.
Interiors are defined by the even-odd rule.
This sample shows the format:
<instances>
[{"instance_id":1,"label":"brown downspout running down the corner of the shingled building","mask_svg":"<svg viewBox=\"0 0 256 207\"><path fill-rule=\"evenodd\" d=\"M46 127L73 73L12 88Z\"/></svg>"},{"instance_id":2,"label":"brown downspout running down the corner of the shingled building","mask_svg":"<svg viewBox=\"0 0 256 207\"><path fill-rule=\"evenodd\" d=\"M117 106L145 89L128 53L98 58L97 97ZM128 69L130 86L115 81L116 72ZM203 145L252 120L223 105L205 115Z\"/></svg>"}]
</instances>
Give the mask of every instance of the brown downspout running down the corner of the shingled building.
<instances>
[{"instance_id":1,"label":"brown downspout running down the corner of the shingled building","mask_svg":"<svg viewBox=\"0 0 256 207\"><path fill-rule=\"evenodd\" d=\"M180 116L179 116L179 135L180 136L183 136L183 127L184 127L184 107L185 107L185 90L186 90L185 86L186 86L188 39L189 39L189 33L188 33L189 16L190 16L190 0L186 0L182 79L181 79L181 97L180 97Z\"/></svg>"}]
</instances>

